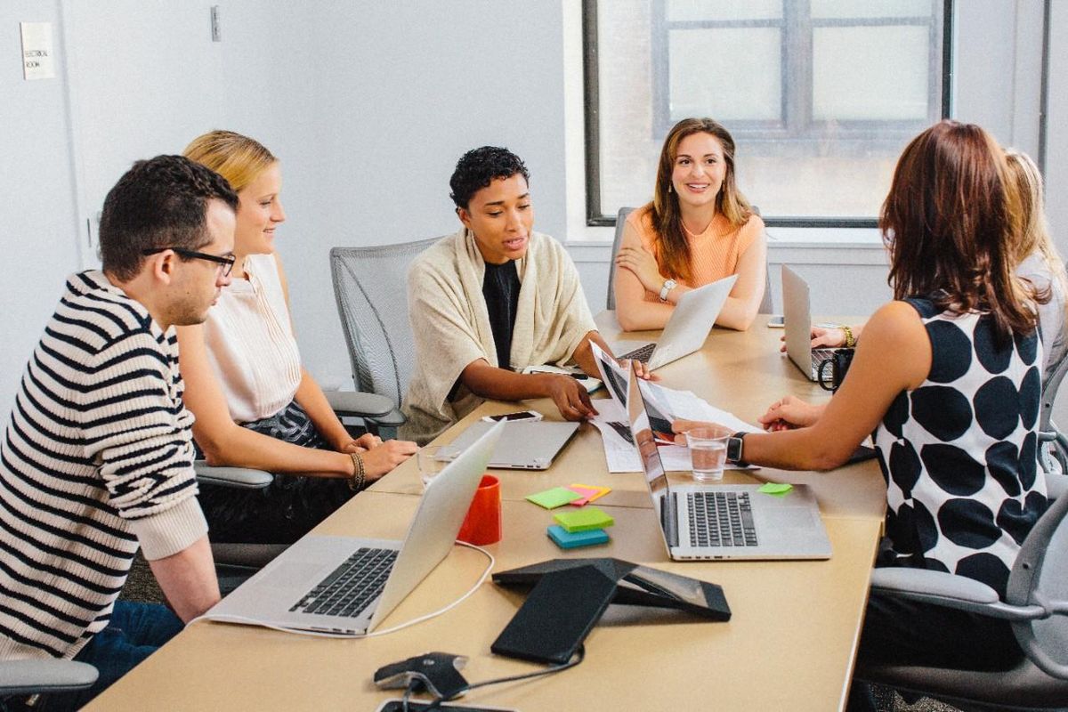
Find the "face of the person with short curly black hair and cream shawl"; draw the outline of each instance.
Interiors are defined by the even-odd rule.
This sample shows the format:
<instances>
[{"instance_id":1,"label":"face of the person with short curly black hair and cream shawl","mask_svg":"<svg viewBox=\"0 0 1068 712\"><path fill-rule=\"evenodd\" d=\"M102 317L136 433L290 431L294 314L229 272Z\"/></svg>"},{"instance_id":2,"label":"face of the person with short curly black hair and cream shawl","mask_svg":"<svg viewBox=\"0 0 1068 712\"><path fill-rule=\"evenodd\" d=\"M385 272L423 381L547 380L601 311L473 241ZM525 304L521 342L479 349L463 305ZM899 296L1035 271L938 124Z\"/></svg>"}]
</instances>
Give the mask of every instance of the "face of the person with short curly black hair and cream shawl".
<instances>
[{"instance_id":1,"label":"face of the person with short curly black hair and cream shawl","mask_svg":"<svg viewBox=\"0 0 1068 712\"><path fill-rule=\"evenodd\" d=\"M457 208L456 215L474 233L478 252L490 265L503 265L527 254L534 206L522 174L494 178L471 196L466 208Z\"/></svg>"}]
</instances>

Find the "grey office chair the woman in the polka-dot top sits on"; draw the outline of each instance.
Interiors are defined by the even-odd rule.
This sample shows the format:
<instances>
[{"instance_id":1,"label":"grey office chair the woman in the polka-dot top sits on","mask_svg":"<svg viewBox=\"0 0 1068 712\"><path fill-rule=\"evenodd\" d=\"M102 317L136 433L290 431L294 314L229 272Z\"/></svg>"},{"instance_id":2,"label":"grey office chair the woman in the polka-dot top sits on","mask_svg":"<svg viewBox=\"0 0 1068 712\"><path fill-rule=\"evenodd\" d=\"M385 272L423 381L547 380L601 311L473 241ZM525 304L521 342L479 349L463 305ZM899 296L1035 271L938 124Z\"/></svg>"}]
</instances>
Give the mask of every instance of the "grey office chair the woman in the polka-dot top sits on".
<instances>
[{"instance_id":1,"label":"grey office chair the woman in the polka-dot top sits on","mask_svg":"<svg viewBox=\"0 0 1068 712\"><path fill-rule=\"evenodd\" d=\"M1064 475L1049 475L1063 493ZM953 670L858 661L854 678L944 700L963 710L1068 708L1068 496L1058 496L1024 539L1005 600L989 586L941 571L879 568L871 591L1011 621L1024 652L1005 671Z\"/></svg>"}]
</instances>

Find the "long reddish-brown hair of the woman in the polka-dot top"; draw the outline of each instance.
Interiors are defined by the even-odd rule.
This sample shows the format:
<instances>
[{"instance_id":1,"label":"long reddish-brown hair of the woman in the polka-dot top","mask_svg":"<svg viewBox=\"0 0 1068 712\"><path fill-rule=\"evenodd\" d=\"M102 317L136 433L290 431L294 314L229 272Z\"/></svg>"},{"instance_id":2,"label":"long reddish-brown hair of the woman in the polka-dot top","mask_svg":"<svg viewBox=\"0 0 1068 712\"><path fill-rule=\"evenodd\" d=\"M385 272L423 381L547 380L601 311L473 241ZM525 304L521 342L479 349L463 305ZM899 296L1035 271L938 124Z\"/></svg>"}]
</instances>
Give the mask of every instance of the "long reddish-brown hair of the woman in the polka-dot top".
<instances>
[{"instance_id":1,"label":"long reddish-brown hair of the woman in the polka-dot top","mask_svg":"<svg viewBox=\"0 0 1068 712\"><path fill-rule=\"evenodd\" d=\"M1023 224L998 142L975 124L934 124L905 148L882 204L894 299L989 312L1002 341L1031 333L1034 294L1014 278Z\"/></svg>"}]
</instances>

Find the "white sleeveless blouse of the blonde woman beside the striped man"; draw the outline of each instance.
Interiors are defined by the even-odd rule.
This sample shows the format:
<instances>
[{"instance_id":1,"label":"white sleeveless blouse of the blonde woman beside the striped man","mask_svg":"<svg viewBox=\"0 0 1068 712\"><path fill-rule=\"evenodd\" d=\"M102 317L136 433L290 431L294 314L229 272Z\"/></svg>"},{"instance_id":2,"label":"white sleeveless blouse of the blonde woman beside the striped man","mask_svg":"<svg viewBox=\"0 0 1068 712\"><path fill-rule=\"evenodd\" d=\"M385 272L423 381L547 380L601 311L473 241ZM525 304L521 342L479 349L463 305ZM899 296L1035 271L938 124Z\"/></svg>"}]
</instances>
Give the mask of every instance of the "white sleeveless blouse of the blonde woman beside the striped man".
<instances>
[{"instance_id":1,"label":"white sleeveless blouse of the blonde woman beside the striped man","mask_svg":"<svg viewBox=\"0 0 1068 712\"><path fill-rule=\"evenodd\" d=\"M235 423L269 417L300 385L300 352L274 255L248 255L247 280L235 279L208 310L204 342Z\"/></svg>"}]
</instances>

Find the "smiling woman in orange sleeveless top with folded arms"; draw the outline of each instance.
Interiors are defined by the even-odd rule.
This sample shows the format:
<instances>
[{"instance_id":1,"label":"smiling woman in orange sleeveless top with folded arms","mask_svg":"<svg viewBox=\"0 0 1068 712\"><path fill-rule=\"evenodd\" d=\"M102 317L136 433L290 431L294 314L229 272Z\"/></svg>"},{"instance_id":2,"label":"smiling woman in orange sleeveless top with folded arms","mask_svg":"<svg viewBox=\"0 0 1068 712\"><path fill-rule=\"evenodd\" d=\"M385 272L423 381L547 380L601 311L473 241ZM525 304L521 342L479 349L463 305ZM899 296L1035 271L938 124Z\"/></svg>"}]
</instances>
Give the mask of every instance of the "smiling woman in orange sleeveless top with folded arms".
<instances>
[{"instance_id":1,"label":"smiling woman in orange sleeveless top with folded arms","mask_svg":"<svg viewBox=\"0 0 1068 712\"><path fill-rule=\"evenodd\" d=\"M735 143L711 118L684 118L660 151L653 202L627 217L615 257L625 331L662 329L690 289L737 274L716 323L749 329L764 298L764 222L735 184Z\"/></svg>"}]
</instances>

